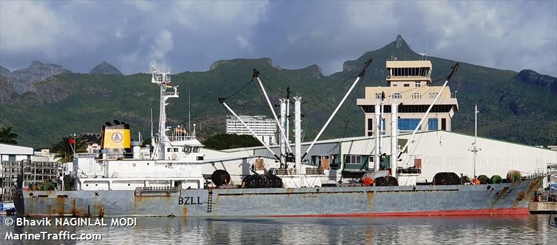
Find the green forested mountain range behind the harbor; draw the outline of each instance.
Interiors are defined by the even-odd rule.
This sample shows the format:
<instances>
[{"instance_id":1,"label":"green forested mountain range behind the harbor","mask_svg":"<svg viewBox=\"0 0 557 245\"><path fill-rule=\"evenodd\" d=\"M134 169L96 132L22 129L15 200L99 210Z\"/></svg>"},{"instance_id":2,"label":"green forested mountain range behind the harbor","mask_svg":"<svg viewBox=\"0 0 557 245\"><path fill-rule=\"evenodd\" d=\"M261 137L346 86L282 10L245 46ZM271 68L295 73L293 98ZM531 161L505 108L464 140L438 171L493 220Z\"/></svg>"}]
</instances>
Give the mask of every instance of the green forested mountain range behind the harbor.
<instances>
[{"instance_id":1,"label":"green forested mountain range behind the harbor","mask_svg":"<svg viewBox=\"0 0 557 245\"><path fill-rule=\"evenodd\" d=\"M363 87L386 86L385 61L391 56L420 59L402 37L382 49L369 51L356 60L345 62L343 71L324 76L320 67L283 69L269 58L219 60L209 71L186 71L173 75L173 85L180 85L179 99L168 102L170 124L186 126L188 93L191 94L191 122L197 124L201 137L225 130L225 100L241 115L268 115L253 68L261 73L272 103L285 96L302 96L304 140L313 137L327 120L336 104L359 74L363 61L373 58L366 76L351 94L322 139L363 135L363 112L356 99L363 98ZM453 60L428 57L433 64L433 78L446 76ZM441 85L442 81L434 83ZM554 144L557 135L557 78L535 71L493 69L461 63L449 83L456 93L460 110L453 117L453 130L473 133L473 106L478 104L478 135L524 144ZM243 87L243 89L242 89ZM241 90L242 89L242 90ZM150 133L150 109L157 124L158 87L150 83L150 74L128 76L104 74L59 74L33 83L28 92L13 94L0 104L0 124L12 126L19 134L19 144L48 146L69 133L98 133L104 121L130 122L132 137L138 131Z\"/></svg>"}]
</instances>

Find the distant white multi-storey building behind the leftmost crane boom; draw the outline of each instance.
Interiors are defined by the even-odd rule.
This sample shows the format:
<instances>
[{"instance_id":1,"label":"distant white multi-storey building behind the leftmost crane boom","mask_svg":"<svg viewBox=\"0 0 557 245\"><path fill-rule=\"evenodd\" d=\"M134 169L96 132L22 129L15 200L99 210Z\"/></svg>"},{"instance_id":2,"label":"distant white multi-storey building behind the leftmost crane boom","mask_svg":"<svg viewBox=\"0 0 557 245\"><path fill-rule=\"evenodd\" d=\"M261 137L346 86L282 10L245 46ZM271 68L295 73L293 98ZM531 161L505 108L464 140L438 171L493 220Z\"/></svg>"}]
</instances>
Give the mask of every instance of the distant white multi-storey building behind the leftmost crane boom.
<instances>
[{"instance_id":1,"label":"distant white multi-storey building behind the leftmost crane boom","mask_svg":"<svg viewBox=\"0 0 557 245\"><path fill-rule=\"evenodd\" d=\"M267 144L276 144L276 124L265 116L240 116L256 135ZM237 135L251 135L249 130L233 116L226 117L226 133Z\"/></svg>"}]
</instances>

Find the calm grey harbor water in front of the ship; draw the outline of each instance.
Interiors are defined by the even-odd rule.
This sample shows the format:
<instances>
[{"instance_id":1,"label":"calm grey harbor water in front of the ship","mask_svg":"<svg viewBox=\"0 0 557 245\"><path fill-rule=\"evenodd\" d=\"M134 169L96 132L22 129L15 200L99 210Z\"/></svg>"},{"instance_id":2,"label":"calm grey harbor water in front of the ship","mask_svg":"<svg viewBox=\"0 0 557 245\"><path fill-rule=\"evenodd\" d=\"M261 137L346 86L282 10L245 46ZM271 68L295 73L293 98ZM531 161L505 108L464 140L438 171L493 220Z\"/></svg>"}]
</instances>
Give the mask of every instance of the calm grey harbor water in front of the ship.
<instances>
[{"instance_id":1,"label":"calm grey harbor water in front of the ship","mask_svg":"<svg viewBox=\"0 0 557 245\"><path fill-rule=\"evenodd\" d=\"M549 215L201 219L138 218L133 227L13 227L0 244L557 244ZM100 233L102 241L6 241L6 233Z\"/></svg>"}]
</instances>

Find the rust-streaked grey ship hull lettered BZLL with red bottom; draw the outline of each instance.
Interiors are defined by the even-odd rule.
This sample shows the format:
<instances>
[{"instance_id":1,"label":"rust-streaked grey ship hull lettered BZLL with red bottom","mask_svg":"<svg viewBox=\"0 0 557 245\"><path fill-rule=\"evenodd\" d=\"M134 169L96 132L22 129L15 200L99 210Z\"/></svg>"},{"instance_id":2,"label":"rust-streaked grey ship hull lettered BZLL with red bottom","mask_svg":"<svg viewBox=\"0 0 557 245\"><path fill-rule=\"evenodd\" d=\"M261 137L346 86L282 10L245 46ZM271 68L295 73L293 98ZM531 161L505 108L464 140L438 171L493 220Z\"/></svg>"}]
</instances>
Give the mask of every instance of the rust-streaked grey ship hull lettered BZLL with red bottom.
<instances>
[{"instance_id":1,"label":"rust-streaked grey ship hull lettered BZLL with red bottom","mask_svg":"<svg viewBox=\"0 0 557 245\"><path fill-rule=\"evenodd\" d=\"M360 217L528 214L542 177L493 185L22 191L24 217Z\"/></svg>"}]
</instances>

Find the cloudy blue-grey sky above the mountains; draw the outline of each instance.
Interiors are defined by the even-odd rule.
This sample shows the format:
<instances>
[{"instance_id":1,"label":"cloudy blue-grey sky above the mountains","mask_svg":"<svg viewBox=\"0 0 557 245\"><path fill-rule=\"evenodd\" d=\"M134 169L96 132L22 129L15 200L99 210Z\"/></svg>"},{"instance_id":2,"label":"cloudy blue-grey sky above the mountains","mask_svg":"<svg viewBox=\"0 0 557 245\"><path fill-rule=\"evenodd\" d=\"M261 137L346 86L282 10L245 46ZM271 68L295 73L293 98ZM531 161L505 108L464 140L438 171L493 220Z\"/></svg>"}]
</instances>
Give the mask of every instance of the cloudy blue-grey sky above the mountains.
<instances>
[{"instance_id":1,"label":"cloudy blue-grey sky above the mountains","mask_svg":"<svg viewBox=\"0 0 557 245\"><path fill-rule=\"evenodd\" d=\"M0 65L125 74L269 57L324 74L397 34L430 56L557 76L557 1L0 1Z\"/></svg>"}]
</instances>

